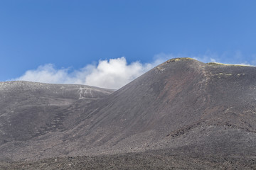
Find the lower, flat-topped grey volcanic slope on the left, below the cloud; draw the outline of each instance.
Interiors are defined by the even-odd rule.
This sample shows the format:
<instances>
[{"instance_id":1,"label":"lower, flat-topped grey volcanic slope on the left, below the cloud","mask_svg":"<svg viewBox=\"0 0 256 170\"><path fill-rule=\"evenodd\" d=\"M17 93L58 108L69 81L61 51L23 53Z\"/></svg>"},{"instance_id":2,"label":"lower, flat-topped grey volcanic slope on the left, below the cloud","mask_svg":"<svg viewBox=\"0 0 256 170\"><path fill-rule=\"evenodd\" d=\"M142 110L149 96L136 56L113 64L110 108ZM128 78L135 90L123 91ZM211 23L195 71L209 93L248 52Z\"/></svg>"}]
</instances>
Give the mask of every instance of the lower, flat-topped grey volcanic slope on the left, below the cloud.
<instances>
[{"instance_id":1,"label":"lower, flat-topped grey volcanic slope on the left, below the cloud","mask_svg":"<svg viewBox=\"0 0 256 170\"><path fill-rule=\"evenodd\" d=\"M90 105L111 93L112 90L82 85L1 82L0 145L58 129L65 118L63 109L79 100Z\"/></svg>"}]
</instances>

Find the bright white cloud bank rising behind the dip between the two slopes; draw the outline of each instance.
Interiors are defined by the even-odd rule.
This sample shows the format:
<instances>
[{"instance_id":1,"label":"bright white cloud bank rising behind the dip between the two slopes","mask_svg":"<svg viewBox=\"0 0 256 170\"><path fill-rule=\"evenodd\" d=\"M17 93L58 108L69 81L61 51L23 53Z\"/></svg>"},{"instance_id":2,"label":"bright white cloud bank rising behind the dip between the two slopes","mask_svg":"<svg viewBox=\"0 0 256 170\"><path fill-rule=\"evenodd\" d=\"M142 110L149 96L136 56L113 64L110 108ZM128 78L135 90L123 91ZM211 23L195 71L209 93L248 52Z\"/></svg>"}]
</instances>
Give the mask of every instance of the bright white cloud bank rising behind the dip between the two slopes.
<instances>
[{"instance_id":1,"label":"bright white cloud bank rising behind the dip between the two slopes","mask_svg":"<svg viewBox=\"0 0 256 170\"><path fill-rule=\"evenodd\" d=\"M69 72L69 69L55 69L53 64L28 70L16 80L37 81L52 84L87 84L103 88L119 89L152 69L164 60L156 57L151 63L127 63L125 57L100 60L97 65L88 64L82 69Z\"/></svg>"}]
</instances>

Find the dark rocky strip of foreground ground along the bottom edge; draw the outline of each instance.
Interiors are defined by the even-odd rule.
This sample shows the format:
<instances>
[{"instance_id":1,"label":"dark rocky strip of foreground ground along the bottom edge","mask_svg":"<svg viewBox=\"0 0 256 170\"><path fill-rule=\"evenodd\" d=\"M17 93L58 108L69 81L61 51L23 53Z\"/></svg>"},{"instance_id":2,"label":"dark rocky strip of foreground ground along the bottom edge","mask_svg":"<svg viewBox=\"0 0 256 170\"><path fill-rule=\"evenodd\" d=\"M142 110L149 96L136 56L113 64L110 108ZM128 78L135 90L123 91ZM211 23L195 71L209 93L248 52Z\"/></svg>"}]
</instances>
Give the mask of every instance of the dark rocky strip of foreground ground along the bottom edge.
<instances>
[{"instance_id":1,"label":"dark rocky strip of foreground ground along the bottom edge","mask_svg":"<svg viewBox=\"0 0 256 170\"><path fill-rule=\"evenodd\" d=\"M256 169L255 157L216 157L150 151L98 157L54 157L33 162L4 162L0 169Z\"/></svg>"}]
</instances>

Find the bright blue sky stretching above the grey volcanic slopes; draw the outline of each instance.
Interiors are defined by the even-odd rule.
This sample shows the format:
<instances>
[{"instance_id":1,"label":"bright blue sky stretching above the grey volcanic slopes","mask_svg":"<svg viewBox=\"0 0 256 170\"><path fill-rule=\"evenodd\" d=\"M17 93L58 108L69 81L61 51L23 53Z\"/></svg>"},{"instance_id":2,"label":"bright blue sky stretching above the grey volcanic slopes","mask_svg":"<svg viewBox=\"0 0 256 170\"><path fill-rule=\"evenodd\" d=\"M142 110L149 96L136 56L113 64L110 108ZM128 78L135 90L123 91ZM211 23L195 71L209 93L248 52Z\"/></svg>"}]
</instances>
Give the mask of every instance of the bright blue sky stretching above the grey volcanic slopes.
<instances>
[{"instance_id":1,"label":"bright blue sky stretching above the grey volcanic slopes","mask_svg":"<svg viewBox=\"0 0 256 170\"><path fill-rule=\"evenodd\" d=\"M249 0L1 0L0 81L28 72L31 81L43 81L33 79L38 72L87 77L100 72L99 61L110 69L122 62L127 72L141 67L127 81L169 57L255 65L255 6Z\"/></svg>"}]
</instances>

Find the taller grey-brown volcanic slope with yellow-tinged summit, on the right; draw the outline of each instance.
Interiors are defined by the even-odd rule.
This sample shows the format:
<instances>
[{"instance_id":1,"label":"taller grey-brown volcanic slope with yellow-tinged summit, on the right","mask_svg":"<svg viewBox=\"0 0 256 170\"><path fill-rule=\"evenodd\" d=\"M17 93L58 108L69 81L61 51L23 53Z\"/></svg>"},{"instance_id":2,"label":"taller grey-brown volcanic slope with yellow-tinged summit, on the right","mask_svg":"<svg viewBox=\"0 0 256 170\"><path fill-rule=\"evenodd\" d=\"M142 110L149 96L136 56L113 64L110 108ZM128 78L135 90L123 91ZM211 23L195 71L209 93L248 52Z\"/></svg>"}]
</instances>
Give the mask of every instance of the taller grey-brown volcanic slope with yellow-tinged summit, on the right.
<instances>
[{"instance_id":1,"label":"taller grey-brown volcanic slope with yellow-tinged summit, on the right","mask_svg":"<svg viewBox=\"0 0 256 170\"><path fill-rule=\"evenodd\" d=\"M168 60L90 105L79 100L54 111L65 115L60 128L5 142L1 159L159 149L254 159L255 78L256 67Z\"/></svg>"}]
</instances>

